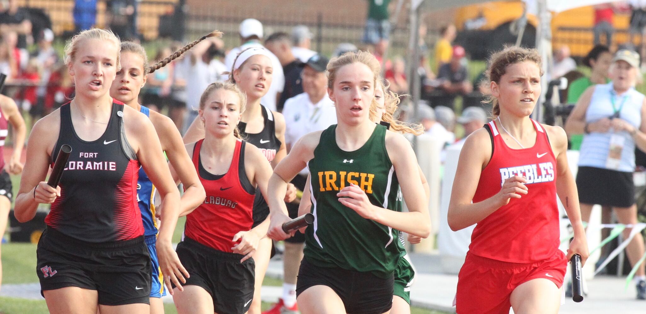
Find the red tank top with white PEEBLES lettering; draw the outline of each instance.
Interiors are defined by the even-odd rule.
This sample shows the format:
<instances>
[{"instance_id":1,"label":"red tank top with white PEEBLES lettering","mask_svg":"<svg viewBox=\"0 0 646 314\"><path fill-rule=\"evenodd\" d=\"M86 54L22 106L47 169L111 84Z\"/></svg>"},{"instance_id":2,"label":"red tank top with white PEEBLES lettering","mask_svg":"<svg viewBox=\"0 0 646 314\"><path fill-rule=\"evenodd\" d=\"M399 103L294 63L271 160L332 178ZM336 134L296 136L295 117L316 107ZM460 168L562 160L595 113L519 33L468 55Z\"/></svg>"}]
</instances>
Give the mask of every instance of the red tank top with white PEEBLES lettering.
<instances>
[{"instance_id":1,"label":"red tank top with white PEEBLES lettering","mask_svg":"<svg viewBox=\"0 0 646 314\"><path fill-rule=\"evenodd\" d=\"M509 148L493 121L485 125L492 136L493 154L480 175L473 202L497 194L511 176L526 178L528 194L510 199L477 223L469 246L472 254L509 263L532 263L560 252L556 157L543 126L532 122L536 143L526 149Z\"/></svg>"}]
</instances>

